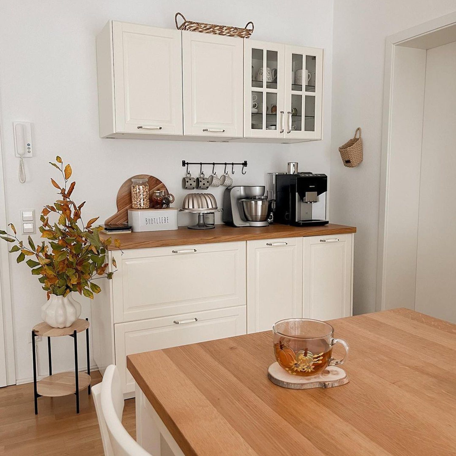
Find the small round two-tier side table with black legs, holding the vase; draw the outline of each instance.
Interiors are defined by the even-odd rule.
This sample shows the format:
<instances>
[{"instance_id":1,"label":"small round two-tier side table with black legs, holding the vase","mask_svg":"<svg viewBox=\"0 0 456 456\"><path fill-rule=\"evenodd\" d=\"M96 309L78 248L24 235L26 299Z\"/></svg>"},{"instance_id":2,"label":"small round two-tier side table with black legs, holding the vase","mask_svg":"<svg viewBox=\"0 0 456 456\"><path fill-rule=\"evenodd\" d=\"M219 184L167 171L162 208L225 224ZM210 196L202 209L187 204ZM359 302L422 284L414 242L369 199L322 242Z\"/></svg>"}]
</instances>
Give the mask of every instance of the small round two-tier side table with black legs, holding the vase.
<instances>
[{"instance_id":1,"label":"small round two-tier side table with black legs, holding the vase","mask_svg":"<svg viewBox=\"0 0 456 456\"><path fill-rule=\"evenodd\" d=\"M56 397L76 395L76 413L79 413L79 391L87 388L90 394L90 357L88 348L89 322L79 318L67 328L53 328L41 322L33 326L31 331L33 355L33 387L35 394L35 415L38 415L38 398L41 396ZM87 373L78 370L78 332L86 332ZM36 381L36 336L47 337L47 357L49 362L49 377ZM51 337L70 336L74 339L74 372L61 372L52 375Z\"/></svg>"}]
</instances>

